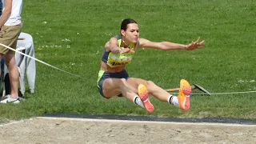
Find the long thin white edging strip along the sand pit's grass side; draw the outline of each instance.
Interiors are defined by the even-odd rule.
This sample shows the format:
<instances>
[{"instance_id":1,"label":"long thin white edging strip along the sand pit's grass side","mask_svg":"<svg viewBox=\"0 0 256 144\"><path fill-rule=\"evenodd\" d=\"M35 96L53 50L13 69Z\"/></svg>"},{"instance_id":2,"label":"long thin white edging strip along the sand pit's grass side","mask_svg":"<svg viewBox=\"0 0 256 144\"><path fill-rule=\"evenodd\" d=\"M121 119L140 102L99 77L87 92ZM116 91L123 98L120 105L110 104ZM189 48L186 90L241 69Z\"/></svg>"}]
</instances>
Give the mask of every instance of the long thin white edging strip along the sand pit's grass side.
<instances>
[{"instance_id":1,"label":"long thin white edging strip along the sand pit's grass side","mask_svg":"<svg viewBox=\"0 0 256 144\"><path fill-rule=\"evenodd\" d=\"M94 119L94 118L56 118L56 117L36 117L37 119L49 119L60 121L81 121L81 122L127 122L127 123L152 123L152 124L176 124L194 126L245 126L256 127L256 125L227 124L227 123L208 123L208 122L156 122L156 121L131 121L117 119Z\"/></svg>"}]
</instances>

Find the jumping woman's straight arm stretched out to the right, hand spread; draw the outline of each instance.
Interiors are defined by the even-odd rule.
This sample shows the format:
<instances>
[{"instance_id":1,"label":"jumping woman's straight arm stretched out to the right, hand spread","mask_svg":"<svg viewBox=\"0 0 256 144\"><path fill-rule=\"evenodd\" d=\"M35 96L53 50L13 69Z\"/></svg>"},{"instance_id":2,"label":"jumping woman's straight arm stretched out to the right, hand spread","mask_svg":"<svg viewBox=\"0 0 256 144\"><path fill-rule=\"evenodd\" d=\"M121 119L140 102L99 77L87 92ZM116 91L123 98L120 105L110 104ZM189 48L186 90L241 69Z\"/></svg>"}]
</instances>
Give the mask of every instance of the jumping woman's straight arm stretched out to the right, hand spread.
<instances>
[{"instance_id":1,"label":"jumping woman's straight arm stretched out to the right, hand spread","mask_svg":"<svg viewBox=\"0 0 256 144\"><path fill-rule=\"evenodd\" d=\"M139 39L139 47L153 48L159 50L194 50L201 48L205 45L205 40L201 41L199 37L196 42L191 42L190 44L179 44L174 42L151 42L145 38Z\"/></svg>"}]
</instances>

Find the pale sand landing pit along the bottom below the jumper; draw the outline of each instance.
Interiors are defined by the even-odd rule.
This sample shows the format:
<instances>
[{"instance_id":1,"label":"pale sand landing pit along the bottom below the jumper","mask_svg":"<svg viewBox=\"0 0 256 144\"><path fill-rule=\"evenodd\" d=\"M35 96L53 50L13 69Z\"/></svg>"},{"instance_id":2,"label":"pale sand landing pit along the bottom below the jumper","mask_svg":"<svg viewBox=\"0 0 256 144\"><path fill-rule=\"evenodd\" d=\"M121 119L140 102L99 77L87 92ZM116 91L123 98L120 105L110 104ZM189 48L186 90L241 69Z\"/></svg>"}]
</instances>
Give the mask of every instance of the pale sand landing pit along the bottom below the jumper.
<instances>
[{"instance_id":1,"label":"pale sand landing pit along the bottom below the jumper","mask_svg":"<svg viewBox=\"0 0 256 144\"><path fill-rule=\"evenodd\" d=\"M256 126L30 118L0 126L0 143L255 143Z\"/></svg>"}]
</instances>

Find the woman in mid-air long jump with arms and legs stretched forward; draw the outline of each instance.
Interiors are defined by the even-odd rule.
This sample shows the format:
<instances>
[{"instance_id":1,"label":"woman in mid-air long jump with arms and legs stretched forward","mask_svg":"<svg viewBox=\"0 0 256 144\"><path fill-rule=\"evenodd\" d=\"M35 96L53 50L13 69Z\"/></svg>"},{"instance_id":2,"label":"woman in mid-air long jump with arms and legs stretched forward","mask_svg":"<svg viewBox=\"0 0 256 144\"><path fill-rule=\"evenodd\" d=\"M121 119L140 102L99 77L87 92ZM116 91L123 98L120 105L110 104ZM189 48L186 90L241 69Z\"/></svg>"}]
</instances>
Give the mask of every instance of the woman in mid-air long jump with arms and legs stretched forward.
<instances>
[{"instance_id":1,"label":"woman in mid-air long jump with arms and legs stretched forward","mask_svg":"<svg viewBox=\"0 0 256 144\"><path fill-rule=\"evenodd\" d=\"M149 112L154 110L149 94L162 102L169 102L182 110L189 110L191 87L185 79L180 81L180 90L178 97L176 97L155 85L154 82L141 78L130 78L125 67L132 61L138 48L195 50L204 45L205 41L200 41L200 38L188 45L173 42L151 42L145 38L139 38L137 22L133 19L124 19L121 24L120 35L110 38L103 50L97 81L98 91L104 98L122 95L128 101L142 106Z\"/></svg>"}]
</instances>

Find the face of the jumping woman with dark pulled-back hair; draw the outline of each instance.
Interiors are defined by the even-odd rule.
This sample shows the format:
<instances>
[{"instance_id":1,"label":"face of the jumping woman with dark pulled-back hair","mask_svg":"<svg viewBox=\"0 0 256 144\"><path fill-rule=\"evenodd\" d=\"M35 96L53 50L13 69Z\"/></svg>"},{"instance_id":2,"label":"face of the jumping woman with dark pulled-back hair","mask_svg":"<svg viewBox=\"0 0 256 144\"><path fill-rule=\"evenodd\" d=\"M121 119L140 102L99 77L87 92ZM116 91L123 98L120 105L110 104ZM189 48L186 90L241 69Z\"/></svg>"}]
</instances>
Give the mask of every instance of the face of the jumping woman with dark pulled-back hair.
<instances>
[{"instance_id":1,"label":"face of the jumping woman with dark pulled-back hair","mask_svg":"<svg viewBox=\"0 0 256 144\"><path fill-rule=\"evenodd\" d=\"M128 43L137 42L139 38L138 24L137 23L128 24L126 30L121 30L121 34L125 42L128 42Z\"/></svg>"}]
</instances>

